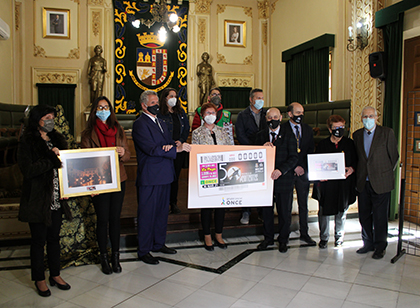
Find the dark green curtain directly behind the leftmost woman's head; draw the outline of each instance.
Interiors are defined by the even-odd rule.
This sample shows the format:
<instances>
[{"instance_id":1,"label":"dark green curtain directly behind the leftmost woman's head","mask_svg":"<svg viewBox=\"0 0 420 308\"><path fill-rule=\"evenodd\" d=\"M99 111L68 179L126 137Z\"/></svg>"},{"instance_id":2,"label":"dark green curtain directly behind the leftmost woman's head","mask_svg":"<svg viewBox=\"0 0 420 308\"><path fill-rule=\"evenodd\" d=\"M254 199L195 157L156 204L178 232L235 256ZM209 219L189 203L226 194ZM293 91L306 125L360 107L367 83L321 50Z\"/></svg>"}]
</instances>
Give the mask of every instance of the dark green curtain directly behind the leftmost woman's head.
<instances>
[{"instance_id":1,"label":"dark green curtain directly behind the leftmost woman's head","mask_svg":"<svg viewBox=\"0 0 420 308\"><path fill-rule=\"evenodd\" d=\"M61 105L69 122L70 134L74 135L74 90L75 84L37 83L38 104L56 107Z\"/></svg>"}]
</instances>

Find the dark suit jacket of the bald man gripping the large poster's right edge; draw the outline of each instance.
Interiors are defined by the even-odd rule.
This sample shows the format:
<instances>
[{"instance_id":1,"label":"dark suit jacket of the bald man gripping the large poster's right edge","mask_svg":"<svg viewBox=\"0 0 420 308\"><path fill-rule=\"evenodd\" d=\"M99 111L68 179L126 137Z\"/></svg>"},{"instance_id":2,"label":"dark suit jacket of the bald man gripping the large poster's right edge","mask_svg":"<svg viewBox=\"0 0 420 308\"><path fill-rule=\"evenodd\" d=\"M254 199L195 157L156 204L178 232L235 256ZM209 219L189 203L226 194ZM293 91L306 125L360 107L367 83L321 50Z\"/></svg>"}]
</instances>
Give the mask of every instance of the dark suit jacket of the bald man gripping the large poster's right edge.
<instances>
[{"instance_id":1,"label":"dark suit jacket of the bald man gripping the large poster's right edge","mask_svg":"<svg viewBox=\"0 0 420 308\"><path fill-rule=\"evenodd\" d=\"M264 120L265 121L265 120ZM270 141L269 129L259 131L255 137L256 145ZM285 129L280 128L279 136L274 141L276 147L275 169L281 171L281 176L274 181L274 193L289 192L293 189L293 170L298 162L296 138ZM269 171L270 172L270 171ZM268 174L271 176L271 172Z\"/></svg>"}]
</instances>

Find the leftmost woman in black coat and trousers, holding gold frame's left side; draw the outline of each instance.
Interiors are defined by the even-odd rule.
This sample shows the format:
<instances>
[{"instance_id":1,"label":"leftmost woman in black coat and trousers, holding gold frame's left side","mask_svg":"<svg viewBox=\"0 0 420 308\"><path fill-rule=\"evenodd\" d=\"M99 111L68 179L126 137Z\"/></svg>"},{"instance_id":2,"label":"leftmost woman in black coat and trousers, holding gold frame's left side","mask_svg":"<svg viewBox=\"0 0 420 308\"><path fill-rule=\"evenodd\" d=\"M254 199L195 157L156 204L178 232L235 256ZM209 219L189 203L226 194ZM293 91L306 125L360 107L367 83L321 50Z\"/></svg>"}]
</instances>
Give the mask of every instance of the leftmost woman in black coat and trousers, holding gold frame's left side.
<instances>
[{"instance_id":1,"label":"leftmost woman in black coat and trousers, holding gold frame's left side","mask_svg":"<svg viewBox=\"0 0 420 308\"><path fill-rule=\"evenodd\" d=\"M18 164L23 174L19 220L31 230L31 274L40 296L50 296L45 281L44 246L47 242L49 282L69 290L60 277L60 228L62 214L71 219L67 202L60 200L59 150L67 148L64 136L54 129L56 111L50 106L35 106L19 142Z\"/></svg>"}]
</instances>

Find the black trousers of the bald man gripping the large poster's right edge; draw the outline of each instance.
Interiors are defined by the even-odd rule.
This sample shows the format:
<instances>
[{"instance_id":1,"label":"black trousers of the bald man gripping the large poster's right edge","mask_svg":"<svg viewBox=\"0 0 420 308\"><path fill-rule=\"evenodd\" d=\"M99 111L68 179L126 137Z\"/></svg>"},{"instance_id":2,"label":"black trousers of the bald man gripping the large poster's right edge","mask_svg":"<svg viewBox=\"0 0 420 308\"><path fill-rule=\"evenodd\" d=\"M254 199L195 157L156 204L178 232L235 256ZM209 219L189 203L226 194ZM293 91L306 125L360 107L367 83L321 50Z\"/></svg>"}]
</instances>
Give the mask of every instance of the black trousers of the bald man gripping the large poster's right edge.
<instances>
[{"instance_id":1,"label":"black trousers of the bald man gripping the large poster's right edge","mask_svg":"<svg viewBox=\"0 0 420 308\"><path fill-rule=\"evenodd\" d=\"M279 221L279 243L289 242L290 224L292 222L293 189L289 192L275 193L276 208ZM262 207L264 219L264 239L274 240L274 211L273 206Z\"/></svg>"}]
</instances>

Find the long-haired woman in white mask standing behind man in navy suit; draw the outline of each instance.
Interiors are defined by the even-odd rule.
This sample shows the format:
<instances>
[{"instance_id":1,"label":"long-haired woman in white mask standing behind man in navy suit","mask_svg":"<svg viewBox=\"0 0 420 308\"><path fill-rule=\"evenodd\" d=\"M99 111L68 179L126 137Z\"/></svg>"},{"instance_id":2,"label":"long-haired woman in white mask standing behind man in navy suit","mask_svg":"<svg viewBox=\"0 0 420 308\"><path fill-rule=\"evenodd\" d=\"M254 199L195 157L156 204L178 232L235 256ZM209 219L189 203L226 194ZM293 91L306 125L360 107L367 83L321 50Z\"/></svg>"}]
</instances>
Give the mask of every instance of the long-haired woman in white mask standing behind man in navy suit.
<instances>
[{"instance_id":1,"label":"long-haired woman in white mask standing behind man in navy suit","mask_svg":"<svg viewBox=\"0 0 420 308\"><path fill-rule=\"evenodd\" d=\"M190 133L190 123L184 109L181 107L180 101L177 99L175 89L165 88L165 90L162 91L159 100L159 113L157 116L166 123L176 146L187 141ZM170 213L172 214L181 213L181 210L177 205L178 178L185 161L185 155L186 152L184 151L178 152L176 154L176 159L174 160L176 180L171 184L171 196L169 201L171 208Z\"/></svg>"}]
</instances>

